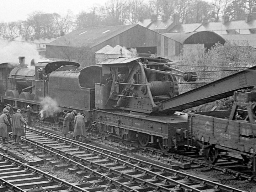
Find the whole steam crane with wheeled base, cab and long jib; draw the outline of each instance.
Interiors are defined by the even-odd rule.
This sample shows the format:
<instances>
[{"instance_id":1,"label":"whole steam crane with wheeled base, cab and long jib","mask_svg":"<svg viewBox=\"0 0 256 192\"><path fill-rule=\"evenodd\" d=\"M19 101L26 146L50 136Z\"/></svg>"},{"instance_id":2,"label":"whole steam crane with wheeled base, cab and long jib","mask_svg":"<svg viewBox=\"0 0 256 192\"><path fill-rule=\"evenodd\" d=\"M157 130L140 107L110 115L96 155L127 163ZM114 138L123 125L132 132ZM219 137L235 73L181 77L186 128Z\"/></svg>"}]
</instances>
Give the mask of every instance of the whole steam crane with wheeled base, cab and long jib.
<instances>
[{"instance_id":1,"label":"whole steam crane with wheeled base, cab and long jib","mask_svg":"<svg viewBox=\"0 0 256 192\"><path fill-rule=\"evenodd\" d=\"M93 121L98 130L141 145L158 142L163 151L190 145L187 114L177 111L219 100L256 86L256 66L179 94L178 80L196 81L193 71L171 67L163 58L107 59L95 84ZM118 73L125 81L118 82Z\"/></svg>"}]
</instances>

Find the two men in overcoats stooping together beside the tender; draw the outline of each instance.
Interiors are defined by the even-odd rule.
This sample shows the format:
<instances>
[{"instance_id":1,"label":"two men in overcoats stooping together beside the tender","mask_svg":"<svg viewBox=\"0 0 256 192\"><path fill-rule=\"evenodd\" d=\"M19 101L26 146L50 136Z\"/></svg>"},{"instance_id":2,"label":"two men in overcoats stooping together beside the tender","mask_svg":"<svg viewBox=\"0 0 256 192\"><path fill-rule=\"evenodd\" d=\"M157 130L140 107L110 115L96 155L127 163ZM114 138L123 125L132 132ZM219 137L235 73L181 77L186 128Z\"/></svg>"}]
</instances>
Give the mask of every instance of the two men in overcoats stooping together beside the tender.
<instances>
[{"instance_id":1,"label":"two men in overcoats stooping together beside the tender","mask_svg":"<svg viewBox=\"0 0 256 192\"><path fill-rule=\"evenodd\" d=\"M63 120L62 133L64 137L70 131L74 131L73 139L75 140L78 140L79 137L86 137L85 117L81 113L77 113L76 110L68 113Z\"/></svg>"}]
</instances>

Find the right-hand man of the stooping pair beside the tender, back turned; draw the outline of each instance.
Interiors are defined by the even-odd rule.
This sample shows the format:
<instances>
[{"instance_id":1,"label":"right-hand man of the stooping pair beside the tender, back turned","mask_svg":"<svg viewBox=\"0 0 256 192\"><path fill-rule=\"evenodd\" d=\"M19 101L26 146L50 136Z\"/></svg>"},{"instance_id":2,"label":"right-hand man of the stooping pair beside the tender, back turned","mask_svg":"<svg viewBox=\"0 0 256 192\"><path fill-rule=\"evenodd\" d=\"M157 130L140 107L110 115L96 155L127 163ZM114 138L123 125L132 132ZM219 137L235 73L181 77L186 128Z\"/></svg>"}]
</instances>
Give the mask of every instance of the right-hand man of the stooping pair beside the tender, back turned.
<instances>
[{"instance_id":1,"label":"right-hand man of the stooping pair beside the tender, back turned","mask_svg":"<svg viewBox=\"0 0 256 192\"><path fill-rule=\"evenodd\" d=\"M81 113L78 113L78 115L75 116L74 125L75 130L73 134L73 139L78 140L80 135L85 136L85 117L82 116Z\"/></svg>"}]
</instances>

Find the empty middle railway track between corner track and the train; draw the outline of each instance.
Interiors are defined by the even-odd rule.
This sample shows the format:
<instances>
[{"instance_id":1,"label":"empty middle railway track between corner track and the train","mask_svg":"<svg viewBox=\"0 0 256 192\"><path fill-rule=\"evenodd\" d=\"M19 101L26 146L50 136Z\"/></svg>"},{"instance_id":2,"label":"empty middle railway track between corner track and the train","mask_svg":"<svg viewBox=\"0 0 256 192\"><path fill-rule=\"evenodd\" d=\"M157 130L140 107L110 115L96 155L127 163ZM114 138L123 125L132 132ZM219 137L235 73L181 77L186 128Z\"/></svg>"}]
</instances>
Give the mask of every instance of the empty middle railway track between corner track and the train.
<instances>
[{"instance_id":1,"label":"empty middle railway track between corner track and the train","mask_svg":"<svg viewBox=\"0 0 256 192\"><path fill-rule=\"evenodd\" d=\"M85 175L82 182L94 181L100 190L119 191L194 191L240 192L241 190L208 181L127 155L95 148L57 135L29 129L23 142L40 158L59 167L71 167L70 172ZM30 150L33 152L32 150ZM65 162L65 165L63 165ZM97 182L96 182L97 181ZM110 187L111 186L111 187ZM111 189L108 189L108 188ZM90 188L83 188L89 190Z\"/></svg>"}]
</instances>

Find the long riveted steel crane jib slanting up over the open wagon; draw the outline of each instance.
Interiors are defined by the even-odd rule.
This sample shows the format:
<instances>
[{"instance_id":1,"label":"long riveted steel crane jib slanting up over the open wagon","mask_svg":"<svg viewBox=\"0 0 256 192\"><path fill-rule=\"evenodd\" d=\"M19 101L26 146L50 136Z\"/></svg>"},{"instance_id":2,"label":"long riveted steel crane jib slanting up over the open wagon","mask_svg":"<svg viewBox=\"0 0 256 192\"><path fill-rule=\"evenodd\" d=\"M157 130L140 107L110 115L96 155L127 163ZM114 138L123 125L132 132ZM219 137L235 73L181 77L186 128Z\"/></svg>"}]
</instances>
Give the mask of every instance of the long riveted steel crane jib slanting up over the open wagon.
<instances>
[{"instance_id":1,"label":"long riveted steel crane jib slanting up over the open wagon","mask_svg":"<svg viewBox=\"0 0 256 192\"><path fill-rule=\"evenodd\" d=\"M157 104L160 111L182 111L234 95L234 91L256 86L256 66L226 76Z\"/></svg>"}]
</instances>

